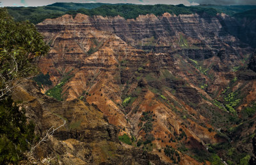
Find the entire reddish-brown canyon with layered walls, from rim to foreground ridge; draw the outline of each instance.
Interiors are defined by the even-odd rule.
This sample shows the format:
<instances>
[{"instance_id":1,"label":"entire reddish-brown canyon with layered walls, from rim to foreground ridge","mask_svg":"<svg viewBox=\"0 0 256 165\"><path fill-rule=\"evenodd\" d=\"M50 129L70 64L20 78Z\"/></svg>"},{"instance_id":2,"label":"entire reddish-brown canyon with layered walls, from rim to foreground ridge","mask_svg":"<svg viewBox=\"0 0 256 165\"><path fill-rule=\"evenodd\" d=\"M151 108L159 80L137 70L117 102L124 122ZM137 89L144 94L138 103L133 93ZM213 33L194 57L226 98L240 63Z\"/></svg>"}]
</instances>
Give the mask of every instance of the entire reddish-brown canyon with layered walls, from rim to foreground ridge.
<instances>
[{"instance_id":1,"label":"entire reddish-brown canyon with layered walls, from rim to foreground ridge","mask_svg":"<svg viewBox=\"0 0 256 165\"><path fill-rule=\"evenodd\" d=\"M13 98L40 136L67 125L36 148L36 157L211 164L252 155L255 52L230 33L239 27L224 13L78 13L40 22L51 51L37 65L52 84L26 81Z\"/></svg>"}]
</instances>

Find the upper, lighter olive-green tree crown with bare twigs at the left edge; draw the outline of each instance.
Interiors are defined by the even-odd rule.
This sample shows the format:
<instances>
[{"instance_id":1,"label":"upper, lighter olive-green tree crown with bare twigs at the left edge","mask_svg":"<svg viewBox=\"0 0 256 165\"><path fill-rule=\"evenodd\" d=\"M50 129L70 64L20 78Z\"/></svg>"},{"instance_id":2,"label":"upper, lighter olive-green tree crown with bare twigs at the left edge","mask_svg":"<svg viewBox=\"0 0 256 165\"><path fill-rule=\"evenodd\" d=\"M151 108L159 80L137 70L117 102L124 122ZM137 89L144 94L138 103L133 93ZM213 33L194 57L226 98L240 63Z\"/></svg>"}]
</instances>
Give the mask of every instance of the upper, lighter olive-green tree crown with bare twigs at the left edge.
<instances>
[{"instance_id":1,"label":"upper, lighter olive-green tree crown with bare twigs at the left edge","mask_svg":"<svg viewBox=\"0 0 256 165\"><path fill-rule=\"evenodd\" d=\"M15 22L6 8L0 8L0 99L8 97L22 79L35 75L33 61L48 51L34 24Z\"/></svg>"}]
</instances>

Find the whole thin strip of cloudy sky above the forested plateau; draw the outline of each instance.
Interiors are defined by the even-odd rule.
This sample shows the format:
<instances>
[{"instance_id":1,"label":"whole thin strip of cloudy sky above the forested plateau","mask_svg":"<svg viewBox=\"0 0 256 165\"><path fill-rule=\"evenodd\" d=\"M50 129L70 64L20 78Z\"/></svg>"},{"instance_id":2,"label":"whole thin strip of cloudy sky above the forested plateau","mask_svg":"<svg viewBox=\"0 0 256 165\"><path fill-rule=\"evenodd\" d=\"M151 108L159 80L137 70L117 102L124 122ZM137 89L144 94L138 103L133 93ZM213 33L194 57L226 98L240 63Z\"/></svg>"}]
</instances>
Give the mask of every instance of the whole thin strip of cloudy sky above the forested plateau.
<instances>
[{"instance_id":1,"label":"whole thin strip of cloudy sky above the forested plateau","mask_svg":"<svg viewBox=\"0 0 256 165\"><path fill-rule=\"evenodd\" d=\"M0 0L1 6L44 6L57 2L73 3L134 3L134 4L255 4L256 0Z\"/></svg>"}]
</instances>

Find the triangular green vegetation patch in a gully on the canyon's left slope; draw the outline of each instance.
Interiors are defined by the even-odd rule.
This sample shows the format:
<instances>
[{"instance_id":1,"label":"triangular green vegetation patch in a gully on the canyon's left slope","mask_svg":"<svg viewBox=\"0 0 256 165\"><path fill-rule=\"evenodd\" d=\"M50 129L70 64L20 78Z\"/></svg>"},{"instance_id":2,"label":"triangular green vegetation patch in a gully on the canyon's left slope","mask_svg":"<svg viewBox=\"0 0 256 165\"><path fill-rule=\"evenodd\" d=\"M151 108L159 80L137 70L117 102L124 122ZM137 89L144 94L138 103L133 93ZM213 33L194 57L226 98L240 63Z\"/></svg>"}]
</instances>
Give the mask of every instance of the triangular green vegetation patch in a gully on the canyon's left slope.
<instances>
[{"instance_id":1,"label":"triangular green vegetation patch in a gully on the canyon's left slope","mask_svg":"<svg viewBox=\"0 0 256 165\"><path fill-rule=\"evenodd\" d=\"M54 86L54 88L47 90L46 95L48 95L49 97L56 98L56 100L62 101L63 100L62 87L67 83L67 81L71 77L73 77L73 75L70 75L70 72L65 74L63 79L61 79L61 82L56 86Z\"/></svg>"}]
</instances>

